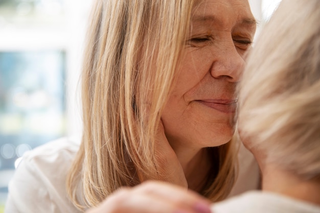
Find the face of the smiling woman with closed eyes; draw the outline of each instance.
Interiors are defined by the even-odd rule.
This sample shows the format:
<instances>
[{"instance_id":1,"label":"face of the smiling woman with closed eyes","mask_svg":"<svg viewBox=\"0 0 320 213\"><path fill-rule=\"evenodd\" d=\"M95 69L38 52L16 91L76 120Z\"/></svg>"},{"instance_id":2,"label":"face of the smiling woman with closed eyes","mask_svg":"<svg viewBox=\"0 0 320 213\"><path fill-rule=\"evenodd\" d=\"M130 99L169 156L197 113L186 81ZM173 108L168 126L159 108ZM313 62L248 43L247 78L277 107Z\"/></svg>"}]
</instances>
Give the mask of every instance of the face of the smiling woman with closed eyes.
<instances>
[{"instance_id":1,"label":"face of the smiling woman with closed eyes","mask_svg":"<svg viewBox=\"0 0 320 213\"><path fill-rule=\"evenodd\" d=\"M162 114L171 144L213 147L232 138L235 87L255 31L247 0L204 0L196 6L177 82Z\"/></svg>"}]
</instances>

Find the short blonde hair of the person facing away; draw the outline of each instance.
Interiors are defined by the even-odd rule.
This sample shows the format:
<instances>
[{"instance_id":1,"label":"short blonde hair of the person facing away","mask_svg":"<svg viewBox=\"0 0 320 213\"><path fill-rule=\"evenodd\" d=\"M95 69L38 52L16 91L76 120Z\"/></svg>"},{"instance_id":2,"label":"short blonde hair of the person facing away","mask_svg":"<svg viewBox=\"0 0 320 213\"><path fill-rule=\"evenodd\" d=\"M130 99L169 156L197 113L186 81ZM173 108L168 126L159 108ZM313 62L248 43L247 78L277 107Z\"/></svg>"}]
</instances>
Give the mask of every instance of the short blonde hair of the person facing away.
<instances>
[{"instance_id":1,"label":"short blonde hair of the person facing away","mask_svg":"<svg viewBox=\"0 0 320 213\"><path fill-rule=\"evenodd\" d=\"M320 177L319 20L320 1L283 0L240 83L246 147L304 179Z\"/></svg>"}]
</instances>

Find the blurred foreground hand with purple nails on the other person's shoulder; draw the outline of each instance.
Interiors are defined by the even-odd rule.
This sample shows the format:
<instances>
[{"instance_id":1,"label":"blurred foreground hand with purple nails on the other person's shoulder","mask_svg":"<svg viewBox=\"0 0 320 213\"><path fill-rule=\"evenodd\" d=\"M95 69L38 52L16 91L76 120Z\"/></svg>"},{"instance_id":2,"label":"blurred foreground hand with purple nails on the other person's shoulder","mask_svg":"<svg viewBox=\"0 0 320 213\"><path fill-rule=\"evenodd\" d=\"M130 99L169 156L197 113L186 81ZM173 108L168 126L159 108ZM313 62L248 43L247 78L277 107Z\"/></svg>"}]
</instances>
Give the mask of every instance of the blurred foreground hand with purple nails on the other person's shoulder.
<instances>
[{"instance_id":1,"label":"blurred foreground hand with purple nails on the other person's shoulder","mask_svg":"<svg viewBox=\"0 0 320 213\"><path fill-rule=\"evenodd\" d=\"M121 188L86 213L210 213L210 201L169 183L146 181Z\"/></svg>"}]
</instances>

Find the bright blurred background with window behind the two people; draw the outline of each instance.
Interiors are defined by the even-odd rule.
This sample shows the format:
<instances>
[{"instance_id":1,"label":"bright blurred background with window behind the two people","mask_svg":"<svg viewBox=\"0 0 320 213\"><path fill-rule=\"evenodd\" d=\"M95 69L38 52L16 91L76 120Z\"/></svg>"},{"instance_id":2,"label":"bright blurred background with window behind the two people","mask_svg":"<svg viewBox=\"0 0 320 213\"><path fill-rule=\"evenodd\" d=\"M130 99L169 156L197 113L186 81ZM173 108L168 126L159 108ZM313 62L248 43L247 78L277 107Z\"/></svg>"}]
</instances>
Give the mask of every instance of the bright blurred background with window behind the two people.
<instances>
[{"instance_id":1,"label":"bright blurred background with window behind the two people","mask_svg":"<svg viewBox=\"0 0 320 213\"><path fill-rule=\"evenodd\" d=\"M250 0L263 27L281 0ZM92 0L0 0L0 213L20 157L81 132L77 93Z\"/></svg>"}]
</instances>

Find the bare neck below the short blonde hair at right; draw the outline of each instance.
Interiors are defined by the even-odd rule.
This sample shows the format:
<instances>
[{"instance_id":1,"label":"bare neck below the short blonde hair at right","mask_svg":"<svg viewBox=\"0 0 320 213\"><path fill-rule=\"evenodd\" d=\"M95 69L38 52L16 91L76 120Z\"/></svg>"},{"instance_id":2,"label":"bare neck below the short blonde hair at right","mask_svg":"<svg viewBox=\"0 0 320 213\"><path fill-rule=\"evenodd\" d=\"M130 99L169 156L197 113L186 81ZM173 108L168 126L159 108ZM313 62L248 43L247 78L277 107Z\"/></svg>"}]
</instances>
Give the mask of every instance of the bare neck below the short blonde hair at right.
<instances>
[{"instance_id":1,"label":"bare neck below the short blonde hair at right","mask_svg":"<svg viewBox=\"0 0 320 213\"><path fill-rule=\"evenodd\" d=\"M262 167L262 190L320 205L320 181L303 180L274 165Z\"/></svg>"}]
</instances>

